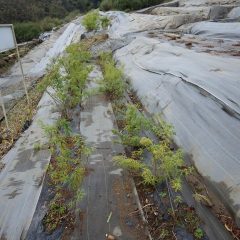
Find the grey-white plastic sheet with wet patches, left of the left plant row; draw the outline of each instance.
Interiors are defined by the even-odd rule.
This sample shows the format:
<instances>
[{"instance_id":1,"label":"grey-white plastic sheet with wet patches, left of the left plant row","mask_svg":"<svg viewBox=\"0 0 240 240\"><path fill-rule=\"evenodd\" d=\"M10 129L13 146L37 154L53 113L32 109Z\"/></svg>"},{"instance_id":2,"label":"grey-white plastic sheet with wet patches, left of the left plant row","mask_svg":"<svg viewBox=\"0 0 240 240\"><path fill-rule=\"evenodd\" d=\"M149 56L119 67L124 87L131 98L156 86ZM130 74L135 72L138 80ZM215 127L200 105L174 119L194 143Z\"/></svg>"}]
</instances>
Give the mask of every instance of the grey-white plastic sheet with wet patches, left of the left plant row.
<instances>
[{"instance_id":1,"label":"grey-white plastic sheet with wet patches, left of the left plant row","mask_svg":"<svg viewBox=\"0 0 240 240\"><path fill-rule=\"evenodd\" d=\"M52 89L48 92L53 94ZM33 123L3 157L5 167L0 172L0 239L25 239L31 223L51 154L36 151L34 144L48 142L40 122L51 126L59 117L56 103L44 93Z\"/></svg>"}]
</instances>

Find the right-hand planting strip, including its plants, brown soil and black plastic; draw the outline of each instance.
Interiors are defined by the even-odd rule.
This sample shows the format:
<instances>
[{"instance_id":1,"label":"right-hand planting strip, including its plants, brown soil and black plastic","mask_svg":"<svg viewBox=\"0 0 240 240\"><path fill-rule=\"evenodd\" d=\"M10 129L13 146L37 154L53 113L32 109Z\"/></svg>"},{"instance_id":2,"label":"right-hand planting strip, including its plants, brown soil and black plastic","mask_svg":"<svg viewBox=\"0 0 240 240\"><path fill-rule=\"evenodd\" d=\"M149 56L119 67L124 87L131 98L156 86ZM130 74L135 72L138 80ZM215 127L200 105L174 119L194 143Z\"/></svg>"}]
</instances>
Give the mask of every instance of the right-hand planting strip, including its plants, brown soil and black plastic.
<instances>
[{"instance_id":1,"label":"right-hand planting strip, including its plants, brown soil and black plastic","mask_svg":"<svg viewBox=\"0 0 240 240\"><path fill-rule=\"evenodd\" d=\"M211 210L206 211L220 220L223 224L220 228L238 239L238 228L226 209L221 211L227 216L227 222L219 217L223 214L214 208L206 191L202 191L206 189L204 183L196 184L193 180L201 176L186 164L182 150L176 148L173 127L161 116L154 116L154 120L146 116L141 102L127 90L123 71L116 68L110 53L101 54L99 64L104 74L101 90L112 101L118 123L114 133L126 150L125 155L116 156L114 161L134 177L152 237L208 239L196 209L184 199L182 190L187 183L193 201L210 207Z\"/></svg>"}]
</instances>

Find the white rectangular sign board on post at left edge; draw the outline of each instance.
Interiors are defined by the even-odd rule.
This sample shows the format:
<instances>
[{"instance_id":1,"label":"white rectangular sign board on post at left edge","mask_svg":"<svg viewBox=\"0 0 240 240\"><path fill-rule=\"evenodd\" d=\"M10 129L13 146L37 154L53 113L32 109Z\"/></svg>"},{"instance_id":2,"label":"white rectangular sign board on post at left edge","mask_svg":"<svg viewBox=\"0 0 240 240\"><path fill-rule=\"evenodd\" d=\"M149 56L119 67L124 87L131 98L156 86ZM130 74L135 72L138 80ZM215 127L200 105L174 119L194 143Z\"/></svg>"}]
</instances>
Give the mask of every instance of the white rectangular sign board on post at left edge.
<instances>
[{"instance_id":1,"label":"white rectangular sign board on post at left edge","mask_svg":"<svg viewBox=\"0 0 240 240\"><path fill-rule=\"evenodd\" d=\"M0 25L0 52L16 48L12 25Z\"/></svg>"}]
</instances>

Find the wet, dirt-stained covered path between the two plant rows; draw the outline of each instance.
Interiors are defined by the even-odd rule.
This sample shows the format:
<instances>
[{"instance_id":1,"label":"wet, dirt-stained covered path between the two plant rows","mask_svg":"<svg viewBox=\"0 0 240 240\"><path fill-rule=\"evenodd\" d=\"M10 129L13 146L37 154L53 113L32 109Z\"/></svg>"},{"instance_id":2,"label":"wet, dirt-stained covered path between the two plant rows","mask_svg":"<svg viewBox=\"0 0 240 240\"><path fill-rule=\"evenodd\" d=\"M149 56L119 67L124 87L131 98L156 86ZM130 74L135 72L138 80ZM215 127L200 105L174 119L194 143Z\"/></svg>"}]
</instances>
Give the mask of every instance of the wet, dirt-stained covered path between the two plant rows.
<instances>
[{"instance_id":1,"label":"wet, dirt-stained covered path between the two plant rows","mask_svg":"<svg viewBox=\"0 0 240 240\"><path fill-rule=\"evenodd\" d=\"M99 70L94 71L93 77L99 76ZM101 94L91 96L81 112L80 132L94 150L72 239L105 239L106 234L119 240L147 239L140 217L130 214L137 209L130 178L112 162L114 155L123 152L121 145L113 144L114 127L110 102Z\"/></svg>"}]
</instances>

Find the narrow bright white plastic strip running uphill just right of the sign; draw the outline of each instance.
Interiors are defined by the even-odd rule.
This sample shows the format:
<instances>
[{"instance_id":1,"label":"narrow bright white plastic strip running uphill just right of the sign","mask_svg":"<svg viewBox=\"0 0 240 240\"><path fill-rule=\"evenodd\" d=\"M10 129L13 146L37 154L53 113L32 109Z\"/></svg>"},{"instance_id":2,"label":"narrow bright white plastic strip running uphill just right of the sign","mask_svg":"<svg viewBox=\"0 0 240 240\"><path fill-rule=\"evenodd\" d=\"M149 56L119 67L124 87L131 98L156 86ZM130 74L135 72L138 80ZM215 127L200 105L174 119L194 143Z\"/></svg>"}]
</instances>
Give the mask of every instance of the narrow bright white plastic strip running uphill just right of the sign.
<instances>
[{"instance_id":1,"label":"narrow bright white plastic strip running uphill just right of the sign","mask_svg":"<svg viewBox=\"0 0 240 240\"><path fill-rule=\"evenodd\" d=\"M75 33L79 30L79 28L80 25L70 23L64 33L54 43L53 47L30 71L29 75L41 77L45 73L46 68L51 63L51 61L54 58L58 57L65 50L65 48L70 45Z\"/></svg>"}]
</instances>

